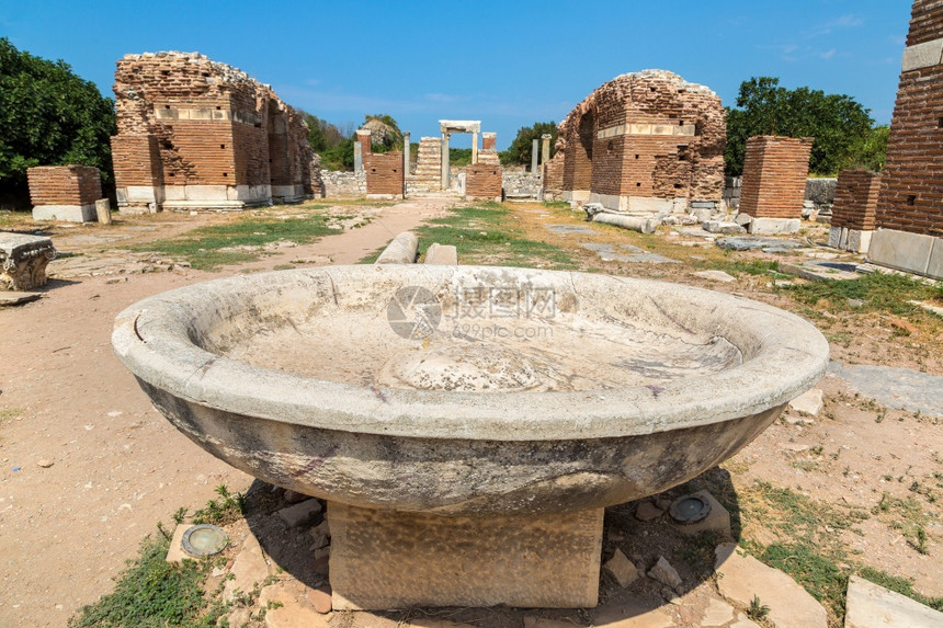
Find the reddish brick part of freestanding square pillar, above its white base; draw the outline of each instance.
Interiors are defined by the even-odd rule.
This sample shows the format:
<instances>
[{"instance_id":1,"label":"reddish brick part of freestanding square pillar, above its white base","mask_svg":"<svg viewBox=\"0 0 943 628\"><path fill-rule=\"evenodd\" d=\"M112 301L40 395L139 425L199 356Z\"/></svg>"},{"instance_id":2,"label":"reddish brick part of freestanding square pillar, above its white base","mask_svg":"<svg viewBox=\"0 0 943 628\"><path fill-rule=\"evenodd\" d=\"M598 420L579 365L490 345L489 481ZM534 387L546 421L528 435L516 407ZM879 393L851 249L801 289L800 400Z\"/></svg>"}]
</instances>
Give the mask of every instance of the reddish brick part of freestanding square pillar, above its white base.
<instances>
[{"instance_id":1,"label":"reddish brick part of freestanding square pillar, above its white base","mask_svg":"<svg viewBox=\"0 0 943 628\"><path fill-rule=\"evenodd\" d=\"M800 218L811 149L810 137L748 139L740 212L754 218Z\"/></svg>"}]
</instances>

